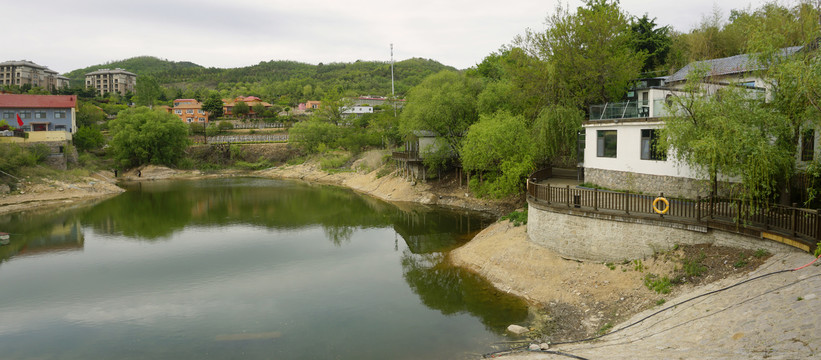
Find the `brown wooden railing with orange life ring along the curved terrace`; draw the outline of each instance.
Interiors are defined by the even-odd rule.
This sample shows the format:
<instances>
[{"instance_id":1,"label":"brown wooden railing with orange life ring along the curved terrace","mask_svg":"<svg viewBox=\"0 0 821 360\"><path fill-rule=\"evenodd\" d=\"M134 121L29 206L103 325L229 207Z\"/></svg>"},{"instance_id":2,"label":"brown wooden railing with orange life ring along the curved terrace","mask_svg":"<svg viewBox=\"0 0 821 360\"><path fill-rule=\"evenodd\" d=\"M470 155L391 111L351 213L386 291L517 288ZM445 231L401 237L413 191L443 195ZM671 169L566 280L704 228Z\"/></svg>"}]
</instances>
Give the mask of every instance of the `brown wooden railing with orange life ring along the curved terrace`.
<instances>
[{"instance_id":1,"label":"brown wooden railing with orange life ring along the curved terrace","mask_svg":"<svg viewBox=\"0 0 821 360\"><path fill-rule=\"evenodd\" d=\"M664 194L645 195L599 189L551 186L540 181L547 172L530 176L527 184L528 199L542 205L579 208L585 211L622 214L633 217L655 218L707 226L754 235L761 231L777 233L815 248L821 241L821 215L818 210L774 204L750 204L738 199L698 197L666 199L669 209L659 214L653 202ZM795 204L794 204L795 205ZM657 208L664 209L659 202Z\"/></svg>"}]
</instances>

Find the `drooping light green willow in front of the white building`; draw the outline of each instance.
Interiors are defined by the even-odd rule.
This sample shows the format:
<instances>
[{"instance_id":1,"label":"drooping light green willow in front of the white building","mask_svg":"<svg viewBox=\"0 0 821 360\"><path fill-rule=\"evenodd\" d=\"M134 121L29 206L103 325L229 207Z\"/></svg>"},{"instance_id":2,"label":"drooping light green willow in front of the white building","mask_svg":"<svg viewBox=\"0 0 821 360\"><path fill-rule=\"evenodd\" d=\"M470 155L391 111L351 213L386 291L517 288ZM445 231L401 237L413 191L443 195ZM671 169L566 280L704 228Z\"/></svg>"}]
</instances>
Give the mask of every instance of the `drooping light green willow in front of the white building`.
<instances>
[{"instance_id":1,"label":"drooping light green willow in front of the white building","mask_svg":"<svg viewBox=\"0 0 821 360\"><path fill-rule=\"evenodd\" d=\"M763 94L730 86L709 93L702 81L705 69L688 78L686 93L672 98L662 130L662 147L672 147L677 160L709 179L713 193L718 182L739 179L734 196L750 202L770 201L779 182L795 162L786 116L774 111Z\"/></svg>"}]
</instances>

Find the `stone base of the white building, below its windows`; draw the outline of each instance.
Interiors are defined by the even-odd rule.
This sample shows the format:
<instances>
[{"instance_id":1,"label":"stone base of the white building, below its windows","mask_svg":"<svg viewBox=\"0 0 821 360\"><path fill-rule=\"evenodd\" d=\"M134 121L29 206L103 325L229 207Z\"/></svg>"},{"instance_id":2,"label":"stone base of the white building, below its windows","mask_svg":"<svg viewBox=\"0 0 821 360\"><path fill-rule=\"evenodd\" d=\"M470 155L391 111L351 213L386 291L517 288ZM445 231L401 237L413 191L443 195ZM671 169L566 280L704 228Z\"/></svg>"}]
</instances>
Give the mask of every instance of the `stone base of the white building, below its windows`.
<instances>
[{"instance_id":1,"label":"stone base of the white building, below its windows","mask_svg":"<svg viewBox=\"0 0 821 360\"><path fill-rule=\"evenodd\" d=\"M627 171L585 168L584 181L607 189L652 195L664 193L664 196L689 199L695 199L699 195L707 196L710 193L708 184L702 180Z\"/></svg>"}]
</instances>

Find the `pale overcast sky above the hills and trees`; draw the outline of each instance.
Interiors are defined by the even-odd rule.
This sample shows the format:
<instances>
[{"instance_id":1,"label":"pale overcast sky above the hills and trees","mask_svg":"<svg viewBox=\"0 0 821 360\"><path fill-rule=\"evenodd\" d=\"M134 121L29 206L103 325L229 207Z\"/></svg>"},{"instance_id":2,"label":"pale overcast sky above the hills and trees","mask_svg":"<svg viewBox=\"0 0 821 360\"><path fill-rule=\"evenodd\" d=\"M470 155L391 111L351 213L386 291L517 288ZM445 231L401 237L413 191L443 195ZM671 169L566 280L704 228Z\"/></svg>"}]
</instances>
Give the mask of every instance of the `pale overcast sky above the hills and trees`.
<instances>
[{"instance_id":1,"label":"pale overcast sky above the hills and trees","mask_svg":"<svg viewBox=\"0 0 821 360\"><path fill-rule=\"evenodd\" d=\"M206 67L269 60L421 57L465 69L525 29L544 30L557 0L20 0L3 5L6 60L60 73L150 55ZM622 0L629 14L688 31L763 0ZM782 1L784 3L784 1ZM562 1L572 8L580 0Z\"/></svg>"}]
</instances>

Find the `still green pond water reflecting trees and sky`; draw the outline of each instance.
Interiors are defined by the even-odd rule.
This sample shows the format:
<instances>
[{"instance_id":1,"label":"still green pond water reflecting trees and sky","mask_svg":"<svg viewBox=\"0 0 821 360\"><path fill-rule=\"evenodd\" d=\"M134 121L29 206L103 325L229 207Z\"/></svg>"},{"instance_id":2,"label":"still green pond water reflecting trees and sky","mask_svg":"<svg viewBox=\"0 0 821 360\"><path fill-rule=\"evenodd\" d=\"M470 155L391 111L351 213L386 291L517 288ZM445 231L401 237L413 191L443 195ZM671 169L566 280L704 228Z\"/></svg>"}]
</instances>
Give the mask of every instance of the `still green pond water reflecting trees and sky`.
<instances>
[{"instance_id":1,"label":"still green pond water reflecting trees and sky","mask_svg":"<svg viewBox=\"0 0 821 360\"><path fill-rule=\"evenodd\" d=\"M467 358L527 317L445 261L489 221L267 179L2 216L0 358Z\"/></svg>"}]
</instances>

